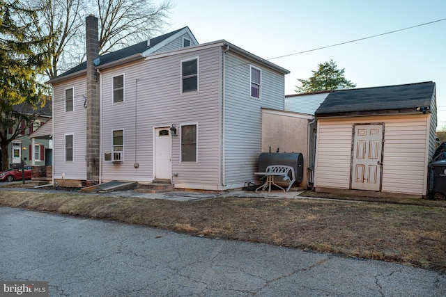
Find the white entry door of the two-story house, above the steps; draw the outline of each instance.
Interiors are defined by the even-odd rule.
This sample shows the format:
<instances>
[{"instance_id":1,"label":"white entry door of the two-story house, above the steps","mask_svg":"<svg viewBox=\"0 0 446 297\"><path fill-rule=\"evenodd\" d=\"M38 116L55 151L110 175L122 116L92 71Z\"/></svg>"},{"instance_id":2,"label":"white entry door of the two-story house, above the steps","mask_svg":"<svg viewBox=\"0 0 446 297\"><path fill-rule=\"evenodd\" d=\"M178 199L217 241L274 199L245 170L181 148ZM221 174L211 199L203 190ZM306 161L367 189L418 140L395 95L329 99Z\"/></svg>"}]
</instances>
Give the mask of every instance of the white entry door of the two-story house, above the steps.
<instances>
[{"instance_id":1,"label":"white entry door of the two-story house, above the steps","mask_svg":"<svg viewBox=\"0 0 446 297\"><path fill-rule=\"evenodd\" d=\"M169 127L155 129L155 178L171 179L171 136Z\"/></svg>"}]
</instances>

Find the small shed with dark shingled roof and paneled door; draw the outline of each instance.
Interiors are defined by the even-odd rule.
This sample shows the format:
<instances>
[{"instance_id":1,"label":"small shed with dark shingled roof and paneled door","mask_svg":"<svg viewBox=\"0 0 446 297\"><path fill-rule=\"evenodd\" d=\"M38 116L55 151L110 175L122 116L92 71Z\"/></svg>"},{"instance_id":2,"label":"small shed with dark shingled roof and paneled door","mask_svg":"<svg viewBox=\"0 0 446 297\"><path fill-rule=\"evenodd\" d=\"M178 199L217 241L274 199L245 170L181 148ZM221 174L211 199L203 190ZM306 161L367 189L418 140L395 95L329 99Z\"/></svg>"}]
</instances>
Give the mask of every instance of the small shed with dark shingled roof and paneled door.
<instances>
[{"instance_id":1,"label":"small shed with dark shingled roof and paneled door","mask_svg":"<svg viewBox=\"0 0 446 297\"><path fill-rule=\"evenodd\" d=\"M435 83L334 90L315 114L316 191L426 195Z\"/></svg>"}]
</instances>

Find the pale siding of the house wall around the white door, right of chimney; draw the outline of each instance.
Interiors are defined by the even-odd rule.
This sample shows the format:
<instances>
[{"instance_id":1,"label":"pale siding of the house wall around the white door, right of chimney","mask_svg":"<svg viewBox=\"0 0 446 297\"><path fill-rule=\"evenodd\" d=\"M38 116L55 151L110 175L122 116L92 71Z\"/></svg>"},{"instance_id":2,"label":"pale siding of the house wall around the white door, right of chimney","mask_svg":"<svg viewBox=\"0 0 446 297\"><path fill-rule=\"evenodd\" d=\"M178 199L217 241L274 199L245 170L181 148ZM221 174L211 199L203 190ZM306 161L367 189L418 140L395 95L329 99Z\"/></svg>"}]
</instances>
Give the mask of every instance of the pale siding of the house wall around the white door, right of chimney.
<instances>
[{"instance_id":1,"label":"pale siding of the house wall around the white door, right of chimney","mask_svg":"<svg viewBox=\"0 0 446 297\"><path fill-rule=\"evenodd\" d=\"M125 108L109 104L111 88L102 93L102 152L109 152L112 130L125 129L125 160L120 165L102 163L102 179L151 182L155 127L169 129L176 124L194 123L197 129L198 162L180 161L180 133L172 136L173 181L180 188L216 190L221 181L221 75L220 48L194 51L148 61L129 63L102 72L102 83L110 83L114 75L125 72ZM199 58L200 92L180 94L181 61ZM138 79L138 81L136 81ZM116 114L119 120L116 120ZM178 130L178 132L180 132ZM103 157L103 156L102 156ZM131 161L129 161L131 160ZM138 163L138 168L134 168Z\"/></svg>"}]
</instances>

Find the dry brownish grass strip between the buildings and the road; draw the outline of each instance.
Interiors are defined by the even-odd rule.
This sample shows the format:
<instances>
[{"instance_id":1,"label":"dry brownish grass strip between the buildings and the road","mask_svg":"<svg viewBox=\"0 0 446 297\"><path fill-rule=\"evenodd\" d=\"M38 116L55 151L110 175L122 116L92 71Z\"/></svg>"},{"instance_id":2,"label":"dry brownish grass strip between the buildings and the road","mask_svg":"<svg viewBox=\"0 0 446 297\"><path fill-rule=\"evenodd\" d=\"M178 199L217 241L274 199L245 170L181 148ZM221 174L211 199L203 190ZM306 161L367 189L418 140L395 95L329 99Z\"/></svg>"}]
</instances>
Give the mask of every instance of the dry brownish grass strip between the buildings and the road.
<instances>
[{"instance_id":1,"label":"dry brownish grass strip between the buildings and the road","mask_svg":"<svg viewBox=\"0 0 446 297\"><path fill-rule=\"evenodd\" d=\"M306 193L307 195L322 195ZM446 271L446 202L216 198L194 202L0 191L0 205Z\"/></svg>"}]
</instances>

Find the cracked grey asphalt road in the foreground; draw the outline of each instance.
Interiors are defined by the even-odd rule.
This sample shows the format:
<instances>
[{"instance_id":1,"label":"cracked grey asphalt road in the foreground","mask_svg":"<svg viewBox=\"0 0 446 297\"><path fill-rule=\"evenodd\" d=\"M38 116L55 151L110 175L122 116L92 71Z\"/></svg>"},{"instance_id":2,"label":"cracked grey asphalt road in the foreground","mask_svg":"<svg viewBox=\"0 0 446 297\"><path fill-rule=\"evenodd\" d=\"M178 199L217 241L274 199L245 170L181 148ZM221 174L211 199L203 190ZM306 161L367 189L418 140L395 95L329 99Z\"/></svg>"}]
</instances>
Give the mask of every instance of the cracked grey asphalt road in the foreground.
<instances>
[{"instance_id":1,"label":"cracked grey asphalt road in the foreground","mask_svg":"<svg viewBox=\"0 0 446 297\"><path fill-rule=\"evenodd\" d=\"M446 294L420 268L8 207L0 280L47 281L49 296Z\"/></svg>"}]
</instances>

